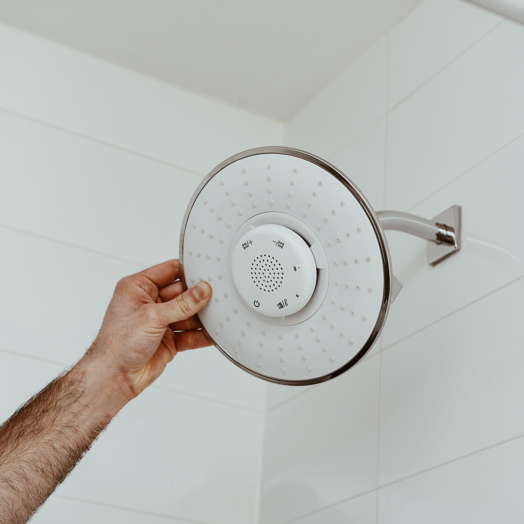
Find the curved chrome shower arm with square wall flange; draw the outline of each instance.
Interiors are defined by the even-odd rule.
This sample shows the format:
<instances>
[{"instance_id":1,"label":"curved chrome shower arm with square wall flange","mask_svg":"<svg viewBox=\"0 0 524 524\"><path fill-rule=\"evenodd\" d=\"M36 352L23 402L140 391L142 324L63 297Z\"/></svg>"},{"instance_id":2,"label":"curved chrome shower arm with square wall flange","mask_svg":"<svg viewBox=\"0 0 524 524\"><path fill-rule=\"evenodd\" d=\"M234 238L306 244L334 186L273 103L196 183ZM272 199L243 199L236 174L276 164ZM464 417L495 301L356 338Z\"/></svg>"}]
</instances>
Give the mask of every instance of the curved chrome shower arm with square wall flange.
<instances>
[{"instance_id":1,"label":"curved chrome shower arm with square wall flange","mask_svg":"<svg viewBox=\"0 0 524 524\"><path fill-rule=\"evenodd\" d=\"M377 211L384 230L396 230L428 241L428 263L432 266L461 248L461 206L453 205L427 220L401 211Z\"/></svg>"}]
</instances>

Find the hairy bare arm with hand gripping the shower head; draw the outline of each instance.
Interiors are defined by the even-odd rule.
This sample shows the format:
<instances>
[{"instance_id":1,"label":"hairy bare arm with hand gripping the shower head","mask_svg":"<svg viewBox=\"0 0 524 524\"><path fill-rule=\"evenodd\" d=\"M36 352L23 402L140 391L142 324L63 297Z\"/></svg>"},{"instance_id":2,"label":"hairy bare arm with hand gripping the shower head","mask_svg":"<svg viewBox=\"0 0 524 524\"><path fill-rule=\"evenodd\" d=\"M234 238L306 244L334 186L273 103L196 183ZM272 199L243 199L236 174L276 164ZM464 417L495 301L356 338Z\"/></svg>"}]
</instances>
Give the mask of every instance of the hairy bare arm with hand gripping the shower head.
<instances>
[{"instance_id":1,"label":"hairy bare arm with hand gripping the shower head","mask_svg":"<svg viewBox=\"0 0 524 524\"><path fill-rule=\"evenodd\" d=\"M119 281L88 352L0 427L0 522L27 522L178 351L209 345L193 315L211 288L179 277L170 260Z\"/></svg>"}]
</instances>

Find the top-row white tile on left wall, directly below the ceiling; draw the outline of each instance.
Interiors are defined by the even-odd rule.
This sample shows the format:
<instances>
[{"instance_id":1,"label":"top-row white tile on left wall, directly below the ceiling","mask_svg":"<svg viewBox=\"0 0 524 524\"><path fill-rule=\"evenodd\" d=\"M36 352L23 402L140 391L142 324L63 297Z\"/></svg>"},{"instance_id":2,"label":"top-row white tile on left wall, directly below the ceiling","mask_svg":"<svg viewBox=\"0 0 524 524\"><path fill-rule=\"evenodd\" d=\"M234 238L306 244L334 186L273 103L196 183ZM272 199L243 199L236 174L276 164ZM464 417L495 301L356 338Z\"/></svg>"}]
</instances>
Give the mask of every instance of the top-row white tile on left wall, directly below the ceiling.
<instances>
[{"instance_id":1,"label":"top-row white tile on left wall, directly below the ceiling","mask_svg":"<svg viewBox=\"0 0 524 524\"><path fill-rule=\"evenodd\" d=\"M206 174L282 125L0 25L0 108Z\"/></svg>"}]
</instances>

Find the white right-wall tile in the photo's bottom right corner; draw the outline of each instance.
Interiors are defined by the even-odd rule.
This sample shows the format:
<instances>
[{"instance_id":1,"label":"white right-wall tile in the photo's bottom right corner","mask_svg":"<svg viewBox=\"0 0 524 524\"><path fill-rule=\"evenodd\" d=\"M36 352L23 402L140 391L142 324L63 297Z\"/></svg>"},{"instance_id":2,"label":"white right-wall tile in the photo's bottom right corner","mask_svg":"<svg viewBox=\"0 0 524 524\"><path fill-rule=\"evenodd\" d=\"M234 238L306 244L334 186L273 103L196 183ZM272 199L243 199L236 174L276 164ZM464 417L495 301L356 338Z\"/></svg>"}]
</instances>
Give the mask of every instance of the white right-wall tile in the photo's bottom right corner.
<instances>
[{"instance_id":1,"label":"white right-wall tile in the photo's bottom right corner","mask_svg":"<svg viewBox=\"0 0 524 524\"><path fill-rule=\"evenodd\" d=\"M522 439L391 484L379 492L378 521L390 524L520 522Z\"/></svg>"}]
</instances>

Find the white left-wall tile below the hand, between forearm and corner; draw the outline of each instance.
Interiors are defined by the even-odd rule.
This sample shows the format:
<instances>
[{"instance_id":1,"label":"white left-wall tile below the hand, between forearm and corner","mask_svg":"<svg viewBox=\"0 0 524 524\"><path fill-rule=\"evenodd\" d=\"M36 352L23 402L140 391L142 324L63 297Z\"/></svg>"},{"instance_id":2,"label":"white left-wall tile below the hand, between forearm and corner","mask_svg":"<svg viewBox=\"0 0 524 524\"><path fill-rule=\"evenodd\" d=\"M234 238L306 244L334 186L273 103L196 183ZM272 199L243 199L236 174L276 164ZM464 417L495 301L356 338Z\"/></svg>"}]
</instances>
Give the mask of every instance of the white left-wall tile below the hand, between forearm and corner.
<instances>
[{"instance_id":1,"label":"white left-wall tile below the hand, between forearm and corner","mask_svg":"<svg viewBox=\"0 0 524 524\"><path fill-rule=\"evenodd\" d=\"M250 410L149 388L57 493L181 520L253 522L262 422Z\"/></svg>"}]
</instances>

